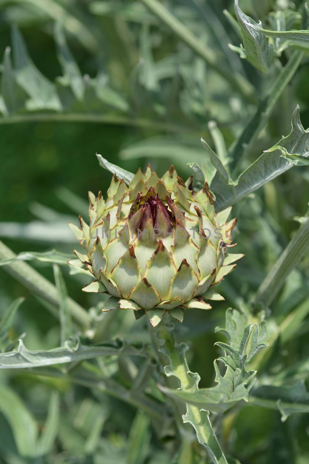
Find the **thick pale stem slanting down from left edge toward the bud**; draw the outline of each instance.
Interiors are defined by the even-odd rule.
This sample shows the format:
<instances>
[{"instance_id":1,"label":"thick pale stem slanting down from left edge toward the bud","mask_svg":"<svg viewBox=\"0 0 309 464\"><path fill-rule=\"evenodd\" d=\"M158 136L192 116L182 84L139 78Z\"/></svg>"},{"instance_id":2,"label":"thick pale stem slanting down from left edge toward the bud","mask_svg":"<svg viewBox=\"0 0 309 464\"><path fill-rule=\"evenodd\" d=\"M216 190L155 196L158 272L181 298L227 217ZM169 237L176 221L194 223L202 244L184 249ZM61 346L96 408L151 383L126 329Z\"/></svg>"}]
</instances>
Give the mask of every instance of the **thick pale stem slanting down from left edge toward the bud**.
<instances>
[{"instance_id":1,"label":"thick pale stem slanting down from left edge toward the bud","mask_svg":"<svg viewBox=\"0 0 309 464\"><path fill-rule=\"evenodd\" d=\"M0 259L10 258L16 258L16 254L0 241ZM14 279L32 291L35 295L40 296L48 303L58 307L59 294L55 285L41 276L41 274L35 271L29 264L23 261L15 261L12 264L2 266L1 269L14 277ZM76 303L76 301L72 300L72 298L68 298L68 309L72 317L82 327L88 327L90 325L90 316L88 312Z\"/></svg>"}]
</instances>

